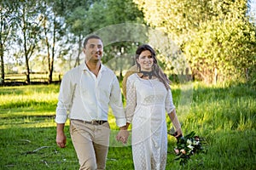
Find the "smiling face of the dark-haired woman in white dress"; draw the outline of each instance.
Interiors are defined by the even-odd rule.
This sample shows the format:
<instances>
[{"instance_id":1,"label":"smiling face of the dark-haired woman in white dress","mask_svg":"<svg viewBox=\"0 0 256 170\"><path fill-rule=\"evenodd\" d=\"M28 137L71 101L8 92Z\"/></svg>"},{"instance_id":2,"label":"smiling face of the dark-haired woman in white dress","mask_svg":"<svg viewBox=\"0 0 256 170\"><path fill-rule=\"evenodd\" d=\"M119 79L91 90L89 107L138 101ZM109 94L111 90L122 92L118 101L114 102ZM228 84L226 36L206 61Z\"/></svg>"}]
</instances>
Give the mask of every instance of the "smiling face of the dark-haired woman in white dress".
<instances>
[{"instance_id":1,"label":"smiling face of the dark-haired woman in white dress","mask_svg":"<svg viewBox=\"0 0 256 170\"><path fill-rule=\"evenodd\" d=\"M142 71L152 71L154 59L149 50L143 51L137 58L137 64L141 65Z\"/></svg>"}]
</instances>

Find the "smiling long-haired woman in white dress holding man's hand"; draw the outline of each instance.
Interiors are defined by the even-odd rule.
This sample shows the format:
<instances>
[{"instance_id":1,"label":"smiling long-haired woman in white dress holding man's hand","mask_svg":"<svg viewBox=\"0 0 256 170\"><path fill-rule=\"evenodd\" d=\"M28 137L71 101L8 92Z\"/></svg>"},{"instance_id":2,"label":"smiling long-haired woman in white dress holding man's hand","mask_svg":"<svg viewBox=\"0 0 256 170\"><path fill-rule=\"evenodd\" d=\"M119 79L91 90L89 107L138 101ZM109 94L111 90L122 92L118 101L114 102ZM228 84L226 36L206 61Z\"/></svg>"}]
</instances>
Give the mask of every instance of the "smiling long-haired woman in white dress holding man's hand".
<instances>
[{"instance_id":1,"label":"smiling long-haired woman in white dress holding man's hand","mask_svg":"<svg viewBox=\"0 0 256 170\"><path fill-rule=\"evenodd\" d=\"M138 71L127 78L125 115L132 124L131 144L135 169L165 169L167 158L166 112L182 135L169 80L160 69L154 49L137 48Z\"/></svg>"}]
</instances>

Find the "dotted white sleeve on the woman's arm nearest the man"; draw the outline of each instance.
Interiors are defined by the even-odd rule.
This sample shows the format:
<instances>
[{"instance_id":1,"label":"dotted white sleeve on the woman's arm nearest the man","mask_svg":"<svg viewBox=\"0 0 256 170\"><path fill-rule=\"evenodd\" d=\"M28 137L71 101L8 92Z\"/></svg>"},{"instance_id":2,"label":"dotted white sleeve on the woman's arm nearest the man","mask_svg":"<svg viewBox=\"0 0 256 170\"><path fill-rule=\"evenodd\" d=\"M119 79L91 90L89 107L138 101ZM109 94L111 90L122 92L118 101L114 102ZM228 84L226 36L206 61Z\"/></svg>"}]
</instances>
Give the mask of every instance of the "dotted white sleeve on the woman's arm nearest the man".
<instances>
[{"instance_id":1,"label":"dotted white sleeve on the woman's arm nearest the man","mask_svg":"<svg viewBox=\"0 0 256 170\"><path fill-rule=\"evenodd\" d=\"M128 77L126 82L126 107L125 116L126 121L131 123L134 115L135 107L137 105L136 88L134 86L134 81Z\"/></svg>"}]
</instances>

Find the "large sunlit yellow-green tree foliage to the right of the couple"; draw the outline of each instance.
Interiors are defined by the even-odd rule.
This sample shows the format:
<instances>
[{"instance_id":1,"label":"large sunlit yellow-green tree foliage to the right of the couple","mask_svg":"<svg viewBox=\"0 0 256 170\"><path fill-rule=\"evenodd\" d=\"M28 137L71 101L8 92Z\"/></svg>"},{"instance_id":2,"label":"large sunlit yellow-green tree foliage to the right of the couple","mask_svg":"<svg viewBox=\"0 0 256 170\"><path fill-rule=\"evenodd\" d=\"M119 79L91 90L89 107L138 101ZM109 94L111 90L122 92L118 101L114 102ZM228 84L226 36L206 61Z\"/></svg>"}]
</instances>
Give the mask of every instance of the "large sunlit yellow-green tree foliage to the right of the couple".
<instances>
[{"instance_id":1,"label":"large sunlit yellow-green tree foliage to the right of the couple","mask_svg":"<svg viewBox=\"0 0 256 170\"><path fill-rule=\"evenodd\" d=\"M247 17L247 0L134 2L150 26L181 47L198 80L230 81L255 65L255 26Z\"/></svg>"}]
</instances>

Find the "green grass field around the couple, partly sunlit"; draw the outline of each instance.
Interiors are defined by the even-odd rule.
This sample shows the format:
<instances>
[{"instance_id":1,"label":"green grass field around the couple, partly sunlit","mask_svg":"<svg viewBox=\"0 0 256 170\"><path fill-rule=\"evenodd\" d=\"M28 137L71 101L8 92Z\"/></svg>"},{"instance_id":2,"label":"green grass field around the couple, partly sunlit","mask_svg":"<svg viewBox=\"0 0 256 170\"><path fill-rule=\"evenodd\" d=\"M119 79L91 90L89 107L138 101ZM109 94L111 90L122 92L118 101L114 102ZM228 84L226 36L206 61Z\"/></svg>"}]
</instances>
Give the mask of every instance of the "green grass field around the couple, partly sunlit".
<instances>
[{"instance_id":1,"label":"green grass field around the couple, partly sunlit","mask_svg":"<svg viewBox=\"0 0 256 170\"><path fill-rule=\"evenodd\" d=\"M0 88L0 169L79 169L66 126L67 147L55 144L58 85ZM166 169L256 169L256 91L247 85L194 83L189 113L179 107L181 88L172 86L183 133L195 131L207 141L207 154L175 161L176 139L168 136ZM113 116L109 122L115 133ZM167 126L170 127L167 119ZM114 136L111 136L112 140ZM114 141L113 141L114 142ZM131 144L111 146L107 169L133 169Z\"/></svg>"}]
</instances>

